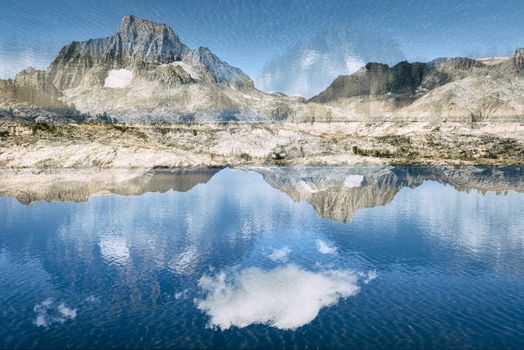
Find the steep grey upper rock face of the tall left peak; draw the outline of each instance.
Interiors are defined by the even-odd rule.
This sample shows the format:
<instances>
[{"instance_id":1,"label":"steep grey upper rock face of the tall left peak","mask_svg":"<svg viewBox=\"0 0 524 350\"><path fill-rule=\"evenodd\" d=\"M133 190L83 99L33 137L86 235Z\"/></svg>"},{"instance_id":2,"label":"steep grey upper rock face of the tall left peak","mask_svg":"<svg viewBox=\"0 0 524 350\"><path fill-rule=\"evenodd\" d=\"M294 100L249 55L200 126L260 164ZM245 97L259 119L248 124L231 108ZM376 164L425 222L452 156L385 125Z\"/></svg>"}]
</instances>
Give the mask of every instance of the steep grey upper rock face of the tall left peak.
<instances>
[{"instance_id":1,"label":"steep grey upper rock face of the tall left peak","mask_svg":"<svg viewBox=\"0 0 524 350\"><path fill-rule=\"evenodd\" d=\"M209 49L198 48L192 51L166 24L134 16L124 17L118 32L111 37L73 41L66 45L49 66L48 74L59 90L67 90L82 84L103 85L104 78L111 69L142 72L144 68L150 71L173 62L188 64L201 72L209 82L252 85L249 77L240 69L221 61ZM165 73L162 70L153 75ZM184 77L168 80L171 85L177 80L179 83L192 82Z\"/></svg>"}]
</instances>

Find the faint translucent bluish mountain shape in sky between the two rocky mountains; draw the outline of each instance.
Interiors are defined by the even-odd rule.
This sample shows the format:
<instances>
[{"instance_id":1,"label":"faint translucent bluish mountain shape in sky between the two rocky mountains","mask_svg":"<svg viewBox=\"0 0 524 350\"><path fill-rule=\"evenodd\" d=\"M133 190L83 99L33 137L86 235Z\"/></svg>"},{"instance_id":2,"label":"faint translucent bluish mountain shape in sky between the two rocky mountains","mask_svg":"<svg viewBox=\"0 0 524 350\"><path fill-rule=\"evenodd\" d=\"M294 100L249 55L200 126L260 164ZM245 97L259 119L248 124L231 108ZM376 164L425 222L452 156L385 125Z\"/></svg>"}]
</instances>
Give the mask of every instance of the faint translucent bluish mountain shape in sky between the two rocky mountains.
<instances>
[{"instance_id":1,"label":"faint translucent bluish mountain shape in sky between the two rocky mountains","mask_svg":"<svg viewBox=\"0 0 524 350\"><path fill-rule=\"evenodd\" d=\"M341 74L352 74L367 62L394 64L404 59L392 41L352 26L332 26L274 58L257 81L265 91L306 98L318 94Z\"/></svg>"}]
</instances>

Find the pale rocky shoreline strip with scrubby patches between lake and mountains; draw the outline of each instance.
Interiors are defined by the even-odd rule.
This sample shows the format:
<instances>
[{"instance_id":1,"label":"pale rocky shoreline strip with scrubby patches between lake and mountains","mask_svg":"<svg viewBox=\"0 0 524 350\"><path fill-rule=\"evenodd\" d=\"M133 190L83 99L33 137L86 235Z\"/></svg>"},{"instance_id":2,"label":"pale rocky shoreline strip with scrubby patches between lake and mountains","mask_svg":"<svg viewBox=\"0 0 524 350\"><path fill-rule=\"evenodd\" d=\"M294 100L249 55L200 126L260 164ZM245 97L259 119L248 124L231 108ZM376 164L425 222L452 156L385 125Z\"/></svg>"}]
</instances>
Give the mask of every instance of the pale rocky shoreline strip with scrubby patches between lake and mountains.
<instances>
[{"instance_id":1,"label":"pale rocky shoreline strip with scrubby patches between lake and mountains","mask_svg":"<svg viewBox=\"0 0 524 350\"><path fill-rule=\"evenodd\" d=\"M0 122L1 168L523 165L524 124Z\"/></svg>"}]
</instances>

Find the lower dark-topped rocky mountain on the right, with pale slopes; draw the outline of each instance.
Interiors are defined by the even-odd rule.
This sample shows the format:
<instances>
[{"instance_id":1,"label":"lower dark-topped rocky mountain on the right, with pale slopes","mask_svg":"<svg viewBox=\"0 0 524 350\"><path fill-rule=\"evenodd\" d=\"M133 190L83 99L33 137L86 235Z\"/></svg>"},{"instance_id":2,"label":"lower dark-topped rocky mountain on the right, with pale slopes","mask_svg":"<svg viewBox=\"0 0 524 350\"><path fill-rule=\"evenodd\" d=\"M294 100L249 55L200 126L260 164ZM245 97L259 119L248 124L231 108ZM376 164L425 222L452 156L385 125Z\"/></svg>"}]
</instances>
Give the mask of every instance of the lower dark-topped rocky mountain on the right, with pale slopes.
<instances>
[{"instance_id":1,"label":"lower dark-topped rocky mountain on the right, with pale slopes","mask_svg":"<svg viewBox=\"0 0 524 350\"><path fill-rule=\"evenodd\" d=\"M393 67L368 63L341 75L309 102L365 117L519 117L524 114L524 49L495 59L440 58Z\"/></svg>"}]
</instances>

